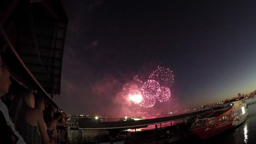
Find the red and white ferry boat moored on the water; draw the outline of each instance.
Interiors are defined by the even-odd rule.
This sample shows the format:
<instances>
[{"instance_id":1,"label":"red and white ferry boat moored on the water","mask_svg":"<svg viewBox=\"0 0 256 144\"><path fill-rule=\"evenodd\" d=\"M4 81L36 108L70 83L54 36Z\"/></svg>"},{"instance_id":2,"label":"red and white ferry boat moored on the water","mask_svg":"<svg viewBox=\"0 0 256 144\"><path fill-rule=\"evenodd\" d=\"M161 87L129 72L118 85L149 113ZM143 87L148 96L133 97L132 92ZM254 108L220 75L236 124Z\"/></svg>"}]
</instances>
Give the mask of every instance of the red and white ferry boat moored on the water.
<instances>
[{"instance_id":1,"label":"red and white ferry boat moored on the water","mask_svg":"<svg viewBox=\"0 0 256 144\"><path fill-rule=\"evenodd\" d=\"M244 100L221 104L209 108L191 126L193 134L207 139L242 124L248 116Z\"/></svg>"}]
</instances>

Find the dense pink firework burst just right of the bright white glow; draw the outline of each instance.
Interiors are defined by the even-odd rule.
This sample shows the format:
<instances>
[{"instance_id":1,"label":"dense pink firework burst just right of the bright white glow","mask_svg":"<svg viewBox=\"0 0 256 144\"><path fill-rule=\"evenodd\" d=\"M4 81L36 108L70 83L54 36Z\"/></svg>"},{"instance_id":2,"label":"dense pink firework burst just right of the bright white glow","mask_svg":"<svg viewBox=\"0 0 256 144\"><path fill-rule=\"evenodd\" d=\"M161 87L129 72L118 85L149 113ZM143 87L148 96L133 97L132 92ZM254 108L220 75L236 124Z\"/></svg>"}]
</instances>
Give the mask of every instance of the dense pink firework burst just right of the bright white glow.
<instances>
[{"instance_id":1,"label":"dense pink firework burst just right of the bright white glow","mask_svg":"<svg viewBox=\"0 0 256 144\"><path fill-rule=\"evenodd\" d=\"M144 82L141 89L143 92L143 99L140 106L144 108L154 106L161 91L159 83L155 80L148 80L147 82Z\"/></svg>"}]
</instances>

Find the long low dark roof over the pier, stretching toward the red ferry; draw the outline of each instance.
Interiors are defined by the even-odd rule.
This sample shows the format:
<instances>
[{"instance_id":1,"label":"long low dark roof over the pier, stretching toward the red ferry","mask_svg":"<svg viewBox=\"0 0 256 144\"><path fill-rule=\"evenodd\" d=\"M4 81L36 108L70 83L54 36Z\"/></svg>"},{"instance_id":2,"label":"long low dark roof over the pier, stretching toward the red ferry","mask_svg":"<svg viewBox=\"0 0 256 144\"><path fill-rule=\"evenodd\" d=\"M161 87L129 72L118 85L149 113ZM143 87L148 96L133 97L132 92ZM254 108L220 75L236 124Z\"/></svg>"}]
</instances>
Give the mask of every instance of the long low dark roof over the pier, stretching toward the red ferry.
<instances>
[{"instance_id":1,"label":"long low dark roof over the pier, stretching toward the red ferry","mask_svg":"<svg viewBox=\"0 0 256 144\"><path fill-rule=\"evenodd\" d=\"M182 120L184 118L191 118L203 114L206 110L192 112L187 114L180 114L176 116L168 116L162 118L153 118L146 120L136 121L118 121L118 122L79 122L79 129L82 130L102 130L102 129L116 129L116 128L136 128L140 126L160 124L164 122L171 122L176 120Z\"/></svg>"}]
</instances>

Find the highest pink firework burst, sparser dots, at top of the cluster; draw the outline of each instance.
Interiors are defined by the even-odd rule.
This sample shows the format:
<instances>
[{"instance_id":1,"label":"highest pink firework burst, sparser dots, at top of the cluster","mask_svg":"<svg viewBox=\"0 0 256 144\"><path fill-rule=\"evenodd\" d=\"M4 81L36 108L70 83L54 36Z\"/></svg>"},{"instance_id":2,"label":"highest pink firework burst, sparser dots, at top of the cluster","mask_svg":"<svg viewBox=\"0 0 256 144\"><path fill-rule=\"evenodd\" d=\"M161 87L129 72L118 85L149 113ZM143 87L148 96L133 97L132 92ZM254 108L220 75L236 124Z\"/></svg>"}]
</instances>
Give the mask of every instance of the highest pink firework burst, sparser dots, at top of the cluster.
<instances>
[{"instance_id":1,"label":"highest pink firework burst, sparser dots, at top of the cluster","mask_svg":"<svg viewBox=\"0 0 256 144\"><path fill-rule=\"evenodd\" d=\"M159 67L150 74L150 80L155 80L161 86L171 87L174 83L174 75L169 68Z\"/></svg>"}]
</instances>

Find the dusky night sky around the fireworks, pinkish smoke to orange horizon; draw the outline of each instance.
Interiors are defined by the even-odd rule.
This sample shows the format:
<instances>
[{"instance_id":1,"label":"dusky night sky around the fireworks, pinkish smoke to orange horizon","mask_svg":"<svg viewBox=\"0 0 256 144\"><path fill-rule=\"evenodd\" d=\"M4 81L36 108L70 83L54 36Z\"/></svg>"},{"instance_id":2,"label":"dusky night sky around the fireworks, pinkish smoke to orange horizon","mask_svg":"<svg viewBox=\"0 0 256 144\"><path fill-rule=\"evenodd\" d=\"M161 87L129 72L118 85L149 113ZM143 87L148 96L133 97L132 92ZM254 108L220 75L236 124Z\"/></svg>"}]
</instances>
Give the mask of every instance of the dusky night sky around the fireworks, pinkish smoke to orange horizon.
<instances>
[{"instance_id":1,"label":"dusky night sky around the fireworks, pinkish smoke to orange horizon","mask_svg":"<svg viewBox=\"0 0 256 144\"><path fill-rule=\"evenodd\" d=\"M211 2L64 0L69 23L54 100L68 114L138 113L120 92L157 66L174 72L172 97L144 112L256 90L256 3Z\"/></svg>"}]
</instances>

